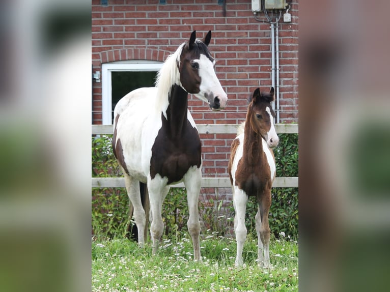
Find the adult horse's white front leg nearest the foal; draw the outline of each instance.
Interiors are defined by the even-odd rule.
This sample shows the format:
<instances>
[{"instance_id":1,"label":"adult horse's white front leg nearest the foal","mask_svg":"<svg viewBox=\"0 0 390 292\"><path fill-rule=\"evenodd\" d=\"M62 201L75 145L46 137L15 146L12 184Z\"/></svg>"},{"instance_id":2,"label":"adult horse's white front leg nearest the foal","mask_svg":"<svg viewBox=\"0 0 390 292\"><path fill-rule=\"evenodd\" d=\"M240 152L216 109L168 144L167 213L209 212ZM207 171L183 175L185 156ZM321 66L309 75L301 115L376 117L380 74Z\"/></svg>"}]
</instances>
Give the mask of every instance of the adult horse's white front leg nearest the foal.
<instances>
[{"instance_id":1,"label":"adult horse's white front leg nearest the foal","mask_svg":"<svg viewBox=\"0 0 390 292\"><path fill-rule=\"evenodd\" d=\"M187 227L193 245L193 260L201 259L201 248L199 243L199 234L201 232L201 224L199 223L198 199L201 191L202 170L196 166L190 168L183 178L185 188L187 190L188 212L189 218Z\"/></svg>"}]
</instances>

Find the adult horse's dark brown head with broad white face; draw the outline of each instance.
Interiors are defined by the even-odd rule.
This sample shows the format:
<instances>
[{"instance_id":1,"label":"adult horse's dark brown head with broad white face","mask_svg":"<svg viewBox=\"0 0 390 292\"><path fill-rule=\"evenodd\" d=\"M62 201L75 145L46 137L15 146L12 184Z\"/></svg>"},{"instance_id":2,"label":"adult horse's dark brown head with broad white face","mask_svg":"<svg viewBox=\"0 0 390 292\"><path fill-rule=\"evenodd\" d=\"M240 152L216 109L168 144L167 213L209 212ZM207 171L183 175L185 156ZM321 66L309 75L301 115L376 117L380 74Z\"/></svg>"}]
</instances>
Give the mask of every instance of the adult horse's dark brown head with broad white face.
<instances>
[{"instance_id":1,"label":"adult horse's dark brown head with broad white face","mask_svg":"<svg viewBox=\"0 0 390 292\"><path fill-rule=\"evenodd\" d=\"M180 82L188 93L208 102L212 110L220 110L226 107L228 96L215 75L215 60L207 47L210 40L211 31L202 41L192 32L180 54Z\"/></svg>"}]
</instances>

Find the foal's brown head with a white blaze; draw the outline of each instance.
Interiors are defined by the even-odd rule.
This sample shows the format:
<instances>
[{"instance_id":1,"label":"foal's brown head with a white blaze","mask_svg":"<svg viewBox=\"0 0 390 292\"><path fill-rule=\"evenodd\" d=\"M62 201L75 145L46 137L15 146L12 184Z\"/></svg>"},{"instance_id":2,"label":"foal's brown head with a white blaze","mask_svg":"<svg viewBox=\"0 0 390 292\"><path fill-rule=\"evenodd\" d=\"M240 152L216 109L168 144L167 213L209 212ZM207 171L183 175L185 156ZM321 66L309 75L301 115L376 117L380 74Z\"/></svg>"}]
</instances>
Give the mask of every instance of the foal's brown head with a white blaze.
<instances>
[{"instance_id":1,"label":"foal's brown head with a white blaze","mask_svg":"<svg viewBox=\"0 0 390 292\"><path fill-rule=\"evenodd\" d=\"M271 102L274 100L274 90L271 87L269 93L260 92L256 89L248 107L248 117L252 129L267 142L269 148L274 148L279 142L276 135L273 119L275 112L272 109ZM248 122L248 121L247 121Z\"/></svg>"}]
</instances>

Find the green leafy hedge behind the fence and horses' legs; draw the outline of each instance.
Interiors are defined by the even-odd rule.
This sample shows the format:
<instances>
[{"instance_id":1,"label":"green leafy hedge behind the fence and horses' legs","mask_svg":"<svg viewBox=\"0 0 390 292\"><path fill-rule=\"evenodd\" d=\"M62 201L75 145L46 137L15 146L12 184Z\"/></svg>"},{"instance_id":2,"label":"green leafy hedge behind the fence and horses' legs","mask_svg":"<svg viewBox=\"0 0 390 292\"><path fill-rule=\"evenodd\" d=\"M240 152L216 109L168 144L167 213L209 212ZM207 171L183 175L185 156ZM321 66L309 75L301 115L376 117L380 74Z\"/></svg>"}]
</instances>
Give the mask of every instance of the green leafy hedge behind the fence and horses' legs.
<instances>
[{"instance_id":1,"label":"green leafy hedge behind the fence and horses' legs","mask_svg":"<svg viewBox=\"0 0 390 292\"><path fill-rule=\"evenodd\" d=\"M298 134L280 134L280 142L274 150L276 160L276 177L298 176ZM111 137L101 135L92 137L92 177L121 177L111 149ZM128 218L129 199L125 188L93 188L92 189L92 229L95 236L113 237L124 236L128 224L134 224ZM246 209L246 227L248 232L256 232L255 215L257 212L256 198L250 197ZM220 235L228 233L221 230L220 210L210 210L205 205L199 205L204 221L215 221L208 228L218 231ZM211 208L212 209L212 208ZM234 214L233 204L230 213ZM226 214L228 216L228 214ZM188 206L186 192L183 188L171 188L163 203L162 218L165 224L165 235L177 236L187 231ZM225 219L224 219L225 220ZM231 219L232 220L232 219ZM222 224L222 229L231 228L230 222ZM271 232L279 237L285 236L298 239L298 188L273 188L272 204L269 213Z\"/></svg>"}]
</instances>

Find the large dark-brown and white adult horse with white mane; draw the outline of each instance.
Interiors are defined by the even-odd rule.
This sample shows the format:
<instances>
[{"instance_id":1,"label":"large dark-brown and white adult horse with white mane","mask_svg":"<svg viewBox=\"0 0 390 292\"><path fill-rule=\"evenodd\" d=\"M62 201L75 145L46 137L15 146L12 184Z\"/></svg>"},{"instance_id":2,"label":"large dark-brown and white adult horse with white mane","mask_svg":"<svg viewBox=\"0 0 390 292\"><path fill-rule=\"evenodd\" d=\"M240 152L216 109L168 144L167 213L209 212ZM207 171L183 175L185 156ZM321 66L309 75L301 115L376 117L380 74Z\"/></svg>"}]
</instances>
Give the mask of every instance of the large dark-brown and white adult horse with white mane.
<instances>
[{"instance_id":1,"label":"large dark-brown and white adult horse with white mane","mask_svg":"<svg viewBox=\"0 0 390 292\"><path fill-rule=\"evenodd\" d=\"M184 182L187 190L187 222L193 244L193 259L200 259L198 198L202 181L201 140L188 110L188 93L208 102L212 110L225 108L222 89L210 55L211 31L203 41L192 32L168 56L157 74L156 87L143 87L124 96L114 109L113 150L125 177L134 207L138 244L144 245L145 210L140 182L146 183L152 223L153 254L163 231L161 207L170 184Z\"/></svg>"}]
</instances>

